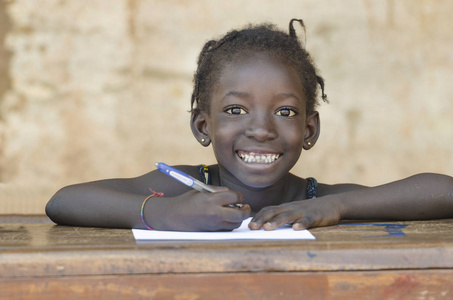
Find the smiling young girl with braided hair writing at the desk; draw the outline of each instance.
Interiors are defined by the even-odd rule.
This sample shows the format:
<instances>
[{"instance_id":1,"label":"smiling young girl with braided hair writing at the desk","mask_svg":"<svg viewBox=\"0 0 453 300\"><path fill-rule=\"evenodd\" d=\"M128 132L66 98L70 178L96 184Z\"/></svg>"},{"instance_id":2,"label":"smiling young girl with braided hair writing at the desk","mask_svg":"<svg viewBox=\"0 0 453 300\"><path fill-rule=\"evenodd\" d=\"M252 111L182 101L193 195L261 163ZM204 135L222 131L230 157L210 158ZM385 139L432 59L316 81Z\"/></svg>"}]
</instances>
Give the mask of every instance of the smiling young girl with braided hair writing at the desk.
<instances>
[{"instance_id":1,"label":"smiling young girl with braided hair writing at the desk","mask_svg":"<svg viewBox=\"0 0 453 300\"><path fill-rule=\"evenodd\" d=\"M72 185L46 207L56 223L156 230L326 226L343 219L453 217L453 179L419 174L377 187L318 184L289 173L320 133L324 81L301 45L272 25L231 31L203 47L192 94L191 128L218 164L176 166L216 190L204 193L154 170L130 179ZM229 204L242 203L240 208Z\"/></svg>"}]
</instances>

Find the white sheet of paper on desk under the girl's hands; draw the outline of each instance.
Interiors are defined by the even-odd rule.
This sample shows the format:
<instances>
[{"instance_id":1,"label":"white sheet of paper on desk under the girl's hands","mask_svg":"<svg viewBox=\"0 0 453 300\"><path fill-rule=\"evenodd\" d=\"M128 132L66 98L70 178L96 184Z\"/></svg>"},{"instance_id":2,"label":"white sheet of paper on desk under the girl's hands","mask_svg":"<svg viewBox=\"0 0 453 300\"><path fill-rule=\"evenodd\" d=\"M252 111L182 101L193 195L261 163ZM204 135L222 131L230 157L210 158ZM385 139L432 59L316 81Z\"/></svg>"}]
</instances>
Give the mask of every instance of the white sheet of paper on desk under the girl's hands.
<instances>
[{"instance_id":1,"label":"white sheet of paper on desk under the girl's hands","mask_svg":"<svg viewBox=\"0 0 453 300\"><path fill-rule=\"evenodd\" d=\"M250 230L248 224L252 218L244 220L242 225L228 232L182 232L132 229L135 240L314 240L308 230L295 231L291 226L282 226L272 231Z\"/></svg>"}]
</instances>

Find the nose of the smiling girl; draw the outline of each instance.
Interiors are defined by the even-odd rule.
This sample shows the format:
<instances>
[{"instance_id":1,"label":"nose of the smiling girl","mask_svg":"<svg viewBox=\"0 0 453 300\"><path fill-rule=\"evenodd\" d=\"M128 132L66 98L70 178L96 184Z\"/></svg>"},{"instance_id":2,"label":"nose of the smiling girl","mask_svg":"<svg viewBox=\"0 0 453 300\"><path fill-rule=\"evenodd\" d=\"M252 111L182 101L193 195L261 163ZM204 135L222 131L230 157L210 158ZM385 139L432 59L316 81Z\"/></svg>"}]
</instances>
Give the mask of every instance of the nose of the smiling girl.
<instances>
[{"instance_id":1,"label":"nose of the smiling girl","mask_svg":"<svg viewBox=\"0 0 453 300\"><path fill-rule=\"evenodd\" d=\"M256 113L246 125L245 135L259 142L275 139L278 134L272 116L266 113Z\"/></svg>"}]
</instances>

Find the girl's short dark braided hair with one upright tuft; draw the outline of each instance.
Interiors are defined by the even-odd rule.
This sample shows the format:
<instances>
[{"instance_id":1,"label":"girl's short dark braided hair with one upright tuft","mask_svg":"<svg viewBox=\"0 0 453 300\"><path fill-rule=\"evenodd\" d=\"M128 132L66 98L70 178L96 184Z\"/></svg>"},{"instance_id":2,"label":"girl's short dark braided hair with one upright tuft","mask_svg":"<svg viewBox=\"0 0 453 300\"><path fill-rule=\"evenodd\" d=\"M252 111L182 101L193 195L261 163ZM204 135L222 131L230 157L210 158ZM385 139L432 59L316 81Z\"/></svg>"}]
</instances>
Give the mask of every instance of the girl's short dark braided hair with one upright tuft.
<instances>
[{"instance_id":1,"label":"girl's short dark braided hair with one upright tuft","mask_svg":"<svg viewBox=\"0 0 453 300\"><path fill-rule=\"evenodd\" d=\"M294 22L298 22L305 31L302 20L292 19L289 23L289 33L278 30L273 24L249 25L241 30L230 31L219 40L208 41L198 57L191 99L192 113L200 111L209 113L213 88L218 83L225 66L256 52L277 57L295 69L307 97L307 114L313 112L319 104L318 86L321 88L322 99L327 102L324 80L317 74L309 53L299 41Z\"/></svg>"}]
</instances>

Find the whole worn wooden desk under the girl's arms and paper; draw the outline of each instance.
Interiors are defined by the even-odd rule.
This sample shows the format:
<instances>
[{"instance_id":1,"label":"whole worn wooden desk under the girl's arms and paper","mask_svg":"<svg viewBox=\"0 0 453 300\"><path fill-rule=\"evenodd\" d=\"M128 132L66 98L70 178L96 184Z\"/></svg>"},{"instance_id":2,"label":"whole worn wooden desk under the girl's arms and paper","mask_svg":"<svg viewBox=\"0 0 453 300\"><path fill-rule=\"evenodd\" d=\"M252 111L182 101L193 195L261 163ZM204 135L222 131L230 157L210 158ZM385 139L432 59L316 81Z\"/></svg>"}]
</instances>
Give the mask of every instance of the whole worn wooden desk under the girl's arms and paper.
<instances>
[{"instance_id":1,"label":"whole worn wooden desk under the girl's arms and paper","mask_svg":"<svg viewBox=\"0 0 453 300\"><path fill-rule=\"evenodd\" d=\"M136 243L130 230L0 224L0 299L453 298L453 219L311 232Z\"/></svg>"}]
</instances>

